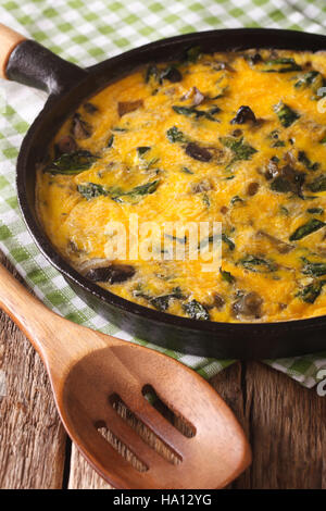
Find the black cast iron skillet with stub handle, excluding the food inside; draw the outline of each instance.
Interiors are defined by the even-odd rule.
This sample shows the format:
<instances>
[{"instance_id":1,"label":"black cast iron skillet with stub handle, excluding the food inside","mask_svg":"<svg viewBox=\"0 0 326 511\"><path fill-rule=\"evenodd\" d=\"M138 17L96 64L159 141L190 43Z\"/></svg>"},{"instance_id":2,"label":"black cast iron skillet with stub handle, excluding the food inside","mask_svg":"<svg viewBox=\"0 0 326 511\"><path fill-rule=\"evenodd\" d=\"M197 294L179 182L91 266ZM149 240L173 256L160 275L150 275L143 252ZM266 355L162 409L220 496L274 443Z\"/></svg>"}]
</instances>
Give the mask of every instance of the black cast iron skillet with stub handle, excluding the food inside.
<instances>
[{"instance_id":1,"label":"black cast iron skillet with stub handle, excluding the food inside","mask_svg":"<svg viewBox=\"0 0 326 511\"><path fill-rule=\"evenodd\" d=\"M49 92L17 161L21 211L36 245L92 309L139 338L186 353L220 358L274 358L326 349L326 316L283 323L196 321L145 308L115 296L77 273L53 248L35 211L35 170L63 120L87 97L148 62L168 61L192 46L203 52L247 48L326 50L326 37L291 30L241 28L163 39L83 70L35 41L15 47L7 77Z\"/></svg>"}]
</instances>

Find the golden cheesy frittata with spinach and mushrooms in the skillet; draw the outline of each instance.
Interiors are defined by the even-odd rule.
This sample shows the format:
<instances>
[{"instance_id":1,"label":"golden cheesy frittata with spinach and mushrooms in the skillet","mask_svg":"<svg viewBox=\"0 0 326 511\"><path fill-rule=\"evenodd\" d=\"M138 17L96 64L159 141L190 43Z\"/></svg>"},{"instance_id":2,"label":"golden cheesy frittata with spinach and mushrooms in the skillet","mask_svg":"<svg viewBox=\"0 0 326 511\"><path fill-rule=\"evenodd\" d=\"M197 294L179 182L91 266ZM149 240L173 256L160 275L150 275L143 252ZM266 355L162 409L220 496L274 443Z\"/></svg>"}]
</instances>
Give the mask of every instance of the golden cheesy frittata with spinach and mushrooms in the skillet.
<instances>
[{"instance_id":1,"label":"golden cheesy frittata with spinach and mushrooms in the skillet","mask_svg":"<svg viewBox=\"0 0 326 511\"><path fill-rule=\"evenodd\" d=\"M325 314L324 76L322 52L193 50L109 85L64 123L38 170L48 237L103 288L172 314ZM128 232L131 213L160 225L221 222L221 270L108 261L108 223Z\"/></svg>"}]
</instances>

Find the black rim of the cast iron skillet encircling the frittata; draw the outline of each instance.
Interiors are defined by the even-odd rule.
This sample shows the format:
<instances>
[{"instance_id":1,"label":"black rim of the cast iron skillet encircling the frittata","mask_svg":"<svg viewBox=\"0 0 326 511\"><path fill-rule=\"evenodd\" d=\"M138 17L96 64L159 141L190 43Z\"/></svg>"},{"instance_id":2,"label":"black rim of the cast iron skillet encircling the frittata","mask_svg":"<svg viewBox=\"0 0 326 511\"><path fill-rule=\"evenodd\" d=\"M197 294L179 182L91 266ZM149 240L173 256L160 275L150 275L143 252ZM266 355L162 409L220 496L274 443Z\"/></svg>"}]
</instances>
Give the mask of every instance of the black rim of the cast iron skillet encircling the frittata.
<instances>
[{"instance_id":1,"label":"black rim of the cast iron skillet encircling the frittata","mask_svg":"<svg viewBox=\"0 0 326 511\"><path fill-rule=\"evenodd\" d=\"M224 34L230 35L231 33L237 34L256 34L258 36L264 35L284 35L290 38L300 36L304 39L311 39L314 43L323 42L324 48L321 50L326 50L326 36L319 34L312 34L312 33L304 33L299 30L287 30L287 29L278 29L278 28L226 28L226 29L216 29L216 30L204 30L204 32L197 32L185 34L181 36L174 36L170 38L160 39L154 42L150 42L148 45L131 49L127 52L124 52L120 55L115 55L111 59L106 59L103 62L97 63L92 66L86 67L90 74L101 74L102 70L108 66L108 63L120 63L124 61L133 54L146 54L152 50L170 47L173 43L181 43L187 47L187 42L193 43L200 41L202 37L212 37L212 36L223 36ZM306 40L308 43L308 40ZM275 46L274 46L275 47ZM278 48L287 49L286 46L277 45ZM252 48L252 45L243 45L243 46L235 46L229 48L228 51L231 50L241 50ZM271 45L261 43L256 46L256 48L273 48ZM290 48L289 48L290 49ZM214 50L218 51L218 50ZM227 50L221 50L227 51ZM309 48L298 50L298 51L318 51L312 50ZM167 59L166 59L167 60ZM149 59L148 62L151 60ZM109 83L109 82L108 82ZM76 86L73 87L75 90L80 85L80 80L76 83ZM42 123L45 116L49 113L50 109L53 109L55 104L59 104L62 101L62 94L59 96L49 96L42 111L36 117L32 126L29 127L26 136L24 137L23 144L21 146L21 150L18 153L17 164L16 164L16 188L17 188L17 198L18 204L21 209L21 213L23 215L25 225L35 241L36 246L40 250L40 252L46 257L46 259L53 265L64 277L68 281L76 284L78 287L82 287L85 291L91 294L95 298L100 300L103 303L116 307L121 311L127 312L134 316L141 316L142 319L153 322L156 325L166 325L173 326L174 328L180 329L183 332L189 331L192 333L206 333L212 334L212 342L217 341L218 338L215 337L221 332L225 332L226 329L230 334L264 334L266 331L274 329L275 334L284 333L285 331L304 331L311 329L313 327L322 327L326 326L326 314L319 316L312 316L299 320L287 320L287 321L279 321L279 322L238 322L238 323L228 323L228 322L214 322L214 321L199 321L192 320L189 317L178 316L174 314L170 314L167 312L156 311L154 309L150 309L145 306L140 306L136 302L126 300L113 292L101 288L95 283L91 283L86 277L84 277L80 273L78 273L73 266L71 266L67 261L57 251L57 249L52 246L50 240L48 239L46 233L42 230L41 226L35 220L35 216L30 210L29 202L27 196L25 194L25 165L27 164L27 157L30 149L30 142L37 130L37 127Z\"/></svg>"}]
</instances>

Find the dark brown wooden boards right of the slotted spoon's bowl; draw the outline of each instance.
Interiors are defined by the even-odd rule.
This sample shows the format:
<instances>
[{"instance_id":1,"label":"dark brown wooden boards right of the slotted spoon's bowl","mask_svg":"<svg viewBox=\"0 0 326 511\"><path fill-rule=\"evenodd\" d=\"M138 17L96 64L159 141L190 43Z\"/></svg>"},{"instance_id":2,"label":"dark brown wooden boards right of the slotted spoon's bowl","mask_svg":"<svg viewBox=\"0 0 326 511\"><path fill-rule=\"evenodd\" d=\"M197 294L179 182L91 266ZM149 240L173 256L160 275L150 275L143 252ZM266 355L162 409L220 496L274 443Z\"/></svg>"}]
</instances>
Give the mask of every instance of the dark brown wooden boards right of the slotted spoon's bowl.
<instances>
[{"instance_id":1,"label":"dark brown wooden boards right of the slotted spoon's bowl","mask_svg":"<svg viewBox=\"0 0 326 511\"><path fill-rule=\"evenodd\" d=\"M326 488L326 398L259 362L238 364L213 384L253 450L234 488Z\"/></svg>"}]
</instances>

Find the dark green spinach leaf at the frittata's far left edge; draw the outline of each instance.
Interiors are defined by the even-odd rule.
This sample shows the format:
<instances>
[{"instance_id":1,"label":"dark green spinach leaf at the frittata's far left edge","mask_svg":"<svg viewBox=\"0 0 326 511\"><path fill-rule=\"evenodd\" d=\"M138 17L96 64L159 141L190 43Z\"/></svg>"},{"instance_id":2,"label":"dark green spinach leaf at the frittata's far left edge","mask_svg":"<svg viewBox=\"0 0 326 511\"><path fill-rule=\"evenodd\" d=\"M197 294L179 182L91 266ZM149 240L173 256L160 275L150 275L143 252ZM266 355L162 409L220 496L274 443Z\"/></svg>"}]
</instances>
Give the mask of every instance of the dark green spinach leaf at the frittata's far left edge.
<instances>
[{"instance_id":1,"label":"dark green spinach leaf at the frittata's far left edge","mask_svg":"<svg viewBox=\"0 0 326 511\"><path fill-rule=\"evenodd\" d=\"M87 171L98 157L86 150L78 150L62 154L45 169L45 172L51 174L77 175Z\"/></svg>"}]
</instances>

